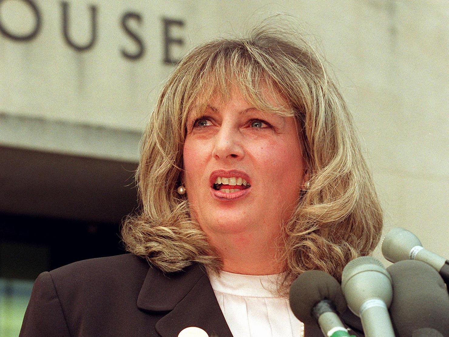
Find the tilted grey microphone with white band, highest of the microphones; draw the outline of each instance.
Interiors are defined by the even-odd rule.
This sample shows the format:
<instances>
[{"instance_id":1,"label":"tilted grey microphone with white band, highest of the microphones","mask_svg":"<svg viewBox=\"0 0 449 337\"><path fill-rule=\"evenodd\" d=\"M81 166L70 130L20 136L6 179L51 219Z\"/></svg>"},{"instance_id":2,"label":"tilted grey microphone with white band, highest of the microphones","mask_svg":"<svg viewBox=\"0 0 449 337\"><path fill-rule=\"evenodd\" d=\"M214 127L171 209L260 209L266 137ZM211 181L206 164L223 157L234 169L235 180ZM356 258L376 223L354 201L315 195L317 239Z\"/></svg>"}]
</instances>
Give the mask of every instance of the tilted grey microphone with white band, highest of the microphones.
<instances>
[{"instance_id":1,"label":"tilted grey microphone with white band, highest of the microphones","mask_svg":"<svg viewBox=\"0 0 449 337\"><path fill-rule=\"evenodd\" d=\"M396 227L385 235L382 241L382 254L390 262L418 260L435 268L449 284L449 262L444 257L423 248L421 241L410 231Z\"/></svg>"}]
</instances>

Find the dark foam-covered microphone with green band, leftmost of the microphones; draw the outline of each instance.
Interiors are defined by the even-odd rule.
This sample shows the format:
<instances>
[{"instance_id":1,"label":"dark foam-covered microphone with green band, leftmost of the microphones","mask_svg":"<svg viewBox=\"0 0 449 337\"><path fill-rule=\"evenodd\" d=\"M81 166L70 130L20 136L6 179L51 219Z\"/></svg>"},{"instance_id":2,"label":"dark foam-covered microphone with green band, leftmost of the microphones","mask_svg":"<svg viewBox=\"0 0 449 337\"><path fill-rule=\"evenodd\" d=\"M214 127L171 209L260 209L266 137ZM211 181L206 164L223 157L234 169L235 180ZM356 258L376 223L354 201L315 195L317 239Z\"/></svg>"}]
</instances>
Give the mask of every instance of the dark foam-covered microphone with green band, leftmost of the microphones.
<instances>
[{"instance_id":1,"label":"dark foam-covered microphone with green band, leftmost of the microphones","mask_svg":"<svg viewBox=\"0 0 449 337\"><path fill-rule=\"evenodd\" d=\"M290 286L290 307L304 324L315 324L327 337L350 336L337 312L346 310L338 281L321 270L300 274Z\"/></svg>"}]
</instances>

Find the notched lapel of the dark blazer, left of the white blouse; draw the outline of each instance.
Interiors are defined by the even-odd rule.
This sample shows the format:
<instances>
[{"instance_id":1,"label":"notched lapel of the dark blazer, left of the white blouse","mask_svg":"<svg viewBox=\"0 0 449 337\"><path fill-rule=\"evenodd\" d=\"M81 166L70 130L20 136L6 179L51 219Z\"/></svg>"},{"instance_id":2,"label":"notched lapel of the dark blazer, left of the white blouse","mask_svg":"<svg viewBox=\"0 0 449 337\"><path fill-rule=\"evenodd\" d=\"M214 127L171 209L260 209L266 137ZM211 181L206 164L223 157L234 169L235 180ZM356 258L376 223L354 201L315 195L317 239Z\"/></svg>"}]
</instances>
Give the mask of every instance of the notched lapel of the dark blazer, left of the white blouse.
<instances>
[{"instance_id":1,"label":"notched lapel of the dark blazer, left of the white blouse","mask_svg":"<svg viewBox=\"0 0 449 337\"><path fill-rule=\"evenodd\" d=\"M162 337L176 337L191 326L202 328L210 337L232 337L209 278L199 264L169 275L150 268L137 306L143 310L169 311L155 326Z\"/></svg>"}]
</instances>

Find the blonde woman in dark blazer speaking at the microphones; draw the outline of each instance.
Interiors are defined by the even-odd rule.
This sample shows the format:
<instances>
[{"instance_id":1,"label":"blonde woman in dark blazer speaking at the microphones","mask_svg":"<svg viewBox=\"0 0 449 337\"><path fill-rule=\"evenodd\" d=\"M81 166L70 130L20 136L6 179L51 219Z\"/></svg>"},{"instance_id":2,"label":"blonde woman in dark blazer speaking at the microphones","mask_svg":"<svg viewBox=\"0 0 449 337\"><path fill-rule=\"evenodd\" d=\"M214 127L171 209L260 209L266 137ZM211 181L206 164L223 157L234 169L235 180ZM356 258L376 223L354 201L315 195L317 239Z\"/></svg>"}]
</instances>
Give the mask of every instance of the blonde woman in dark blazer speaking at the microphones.
<instances>
[{"instance_id":1,"label":"blonde woman in dark blazer speaking at the microphones","mask_svg":"<svg viewBox=\"0 0 449 337\"><path fill-rule=\"evenodd\" d=\"M142 139L132 254L41 274L21 336L322 335L288 287L305 270L340 278L382 213L343 98L291 36L260 28L181 60Z\"/></svg>"}]
</instances>

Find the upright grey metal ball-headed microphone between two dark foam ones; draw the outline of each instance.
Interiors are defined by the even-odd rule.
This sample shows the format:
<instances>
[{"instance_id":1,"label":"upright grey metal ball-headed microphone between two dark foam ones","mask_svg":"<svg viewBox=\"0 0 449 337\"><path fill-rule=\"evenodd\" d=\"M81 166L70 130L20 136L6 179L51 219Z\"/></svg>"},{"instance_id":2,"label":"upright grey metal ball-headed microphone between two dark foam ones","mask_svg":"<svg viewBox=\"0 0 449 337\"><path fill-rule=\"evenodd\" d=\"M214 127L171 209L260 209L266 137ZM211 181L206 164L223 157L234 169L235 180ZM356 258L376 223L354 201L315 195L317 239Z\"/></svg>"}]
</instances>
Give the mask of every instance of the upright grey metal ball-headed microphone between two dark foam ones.
<instances>
[{"instance_id":1,"label":"upright grey metal ball-headed microphone between two dark foam ones","mask_svg":"<svg viewBox=\"0 0 449 337\"><path fill-rule=\"evenodd\" d=\"M382 262L357 257L344 268L341 288L349 309L359 316L366 337L395 337L388 315L393 297L392 279Z\"/></svg>"}]
</instances>

